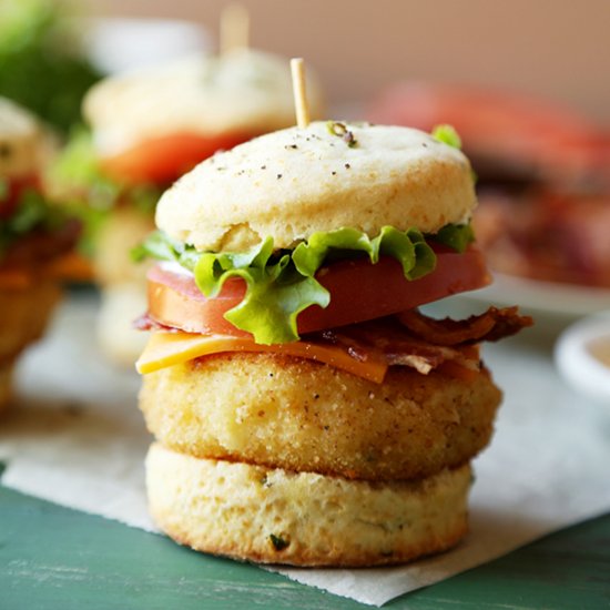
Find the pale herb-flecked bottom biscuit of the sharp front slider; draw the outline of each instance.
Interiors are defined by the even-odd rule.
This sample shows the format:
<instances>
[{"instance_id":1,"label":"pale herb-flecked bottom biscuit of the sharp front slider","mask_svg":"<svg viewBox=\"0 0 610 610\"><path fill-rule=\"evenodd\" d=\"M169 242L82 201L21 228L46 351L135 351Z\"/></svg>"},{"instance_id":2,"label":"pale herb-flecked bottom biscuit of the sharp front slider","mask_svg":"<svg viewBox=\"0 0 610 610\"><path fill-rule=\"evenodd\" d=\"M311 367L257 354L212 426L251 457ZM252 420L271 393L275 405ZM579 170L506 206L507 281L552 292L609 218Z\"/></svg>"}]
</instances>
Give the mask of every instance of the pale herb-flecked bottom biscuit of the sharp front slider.
<instances>
[{"instance_id":1,"label":"pale herb-flecked bottom biscuit of the sharp front slider","mask_svg":"<svg viewBox=\"0 0 610 610\"><path fill-rule=\"evenodd\" d=\"M185 456L146 458L153 519L196 550L266 563L379 566L445 550L467 530L468 465L373 484Z\"/></svg>"}]
</instances>

